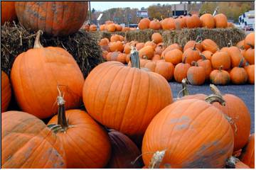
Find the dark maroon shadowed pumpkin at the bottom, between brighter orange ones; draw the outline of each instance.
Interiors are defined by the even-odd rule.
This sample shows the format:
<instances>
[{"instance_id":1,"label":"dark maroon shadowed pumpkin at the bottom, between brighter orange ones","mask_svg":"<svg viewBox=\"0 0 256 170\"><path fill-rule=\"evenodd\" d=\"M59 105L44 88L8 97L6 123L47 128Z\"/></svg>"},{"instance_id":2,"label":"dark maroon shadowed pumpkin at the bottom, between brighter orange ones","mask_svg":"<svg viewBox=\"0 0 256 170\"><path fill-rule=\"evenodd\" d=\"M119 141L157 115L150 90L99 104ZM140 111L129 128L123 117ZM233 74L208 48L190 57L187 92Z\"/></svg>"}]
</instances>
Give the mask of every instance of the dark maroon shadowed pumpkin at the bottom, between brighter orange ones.
<instances>
[{"instance_id":1,"label":"dark maroon shadowed pumpkin at the bottom, between brighter orange ones","mask_svg":"<svg viewBox=\"0 0 256 170\"><path fill-rule=\"evenodd\" d=\"M115 130L109 132L108 135L110 136L112 153L107 168L138 169L142 167L139 160L135 164L132 164L141 152L129 137Z\"/></svg>"}]
</instances>

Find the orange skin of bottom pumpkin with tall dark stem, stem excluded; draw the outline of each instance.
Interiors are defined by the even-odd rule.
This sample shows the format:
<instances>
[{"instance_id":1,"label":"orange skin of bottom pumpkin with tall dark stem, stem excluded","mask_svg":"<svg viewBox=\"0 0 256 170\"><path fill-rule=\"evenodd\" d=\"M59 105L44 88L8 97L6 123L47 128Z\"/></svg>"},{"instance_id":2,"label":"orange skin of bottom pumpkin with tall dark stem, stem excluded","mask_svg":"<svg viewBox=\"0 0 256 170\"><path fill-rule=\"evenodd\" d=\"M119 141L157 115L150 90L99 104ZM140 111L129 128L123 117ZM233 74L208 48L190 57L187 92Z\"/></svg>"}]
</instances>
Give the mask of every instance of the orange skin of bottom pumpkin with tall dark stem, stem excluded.
<instances>
[{"instance_id":1,"label":"orange skin of bottom pumpkin with tall dark stem, stem excluded","mask_svg":"<svg viewBox=\"0 0 256 170\"><path fill-rule=\"evenodd\" d=\"M56 135L65 149L67 168L103 168L110 159L111 145L100 125L90 115L81 110L65 111L68 125L73 128ZM48 123L58 124L58 115Z\"/></svg>"}]
</instances>

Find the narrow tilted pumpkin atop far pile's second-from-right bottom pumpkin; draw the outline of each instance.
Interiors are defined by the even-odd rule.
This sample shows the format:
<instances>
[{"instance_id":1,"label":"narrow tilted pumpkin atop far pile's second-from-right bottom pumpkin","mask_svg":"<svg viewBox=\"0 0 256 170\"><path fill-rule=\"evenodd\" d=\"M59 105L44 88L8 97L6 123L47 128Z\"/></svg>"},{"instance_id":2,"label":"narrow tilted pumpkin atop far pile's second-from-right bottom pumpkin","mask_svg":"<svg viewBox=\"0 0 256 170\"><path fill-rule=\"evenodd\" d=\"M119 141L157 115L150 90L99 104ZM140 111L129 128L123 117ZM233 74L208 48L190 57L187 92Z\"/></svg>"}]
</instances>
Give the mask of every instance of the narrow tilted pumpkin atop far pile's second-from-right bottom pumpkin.
<instances>
[{"instance_id":1,"label":"narrow tilted pumpkin atop far pile's second-from-right bottom pumpkin","mask_svg":"<svg viewBox=\"0 0 256 170\"><path fill-rule=\"evenodd\" d=\"M230 55L230 59L231 59L231 67L238 67L241 60L242 60L241 67L245 66L246 61L242 56L238 47L235 47L235 46L229 47L228 54Z\"/></svg>"}]
</instances>

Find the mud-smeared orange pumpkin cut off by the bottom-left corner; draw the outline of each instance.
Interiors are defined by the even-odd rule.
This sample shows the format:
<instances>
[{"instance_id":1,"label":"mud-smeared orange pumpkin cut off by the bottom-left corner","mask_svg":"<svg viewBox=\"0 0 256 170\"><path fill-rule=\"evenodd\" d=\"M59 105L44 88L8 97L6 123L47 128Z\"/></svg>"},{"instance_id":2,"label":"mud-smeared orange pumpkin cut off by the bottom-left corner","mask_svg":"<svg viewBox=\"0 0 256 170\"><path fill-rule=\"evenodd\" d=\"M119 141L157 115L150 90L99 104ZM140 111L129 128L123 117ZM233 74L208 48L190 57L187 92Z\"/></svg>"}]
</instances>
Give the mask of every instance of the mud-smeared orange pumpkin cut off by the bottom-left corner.
<instances>
[{"instance_id":1,"label":"mud-smeared orange pumpkin cut off by the bottom-left corner","mask_svg":"<svg viewBox=\"0 0 256 170\"><path fill-rule=\"evenodd\" d=\"M35 116L5 112L1 114L1 168L66 168L63 145Z\"/></svg>"}]
</instances>

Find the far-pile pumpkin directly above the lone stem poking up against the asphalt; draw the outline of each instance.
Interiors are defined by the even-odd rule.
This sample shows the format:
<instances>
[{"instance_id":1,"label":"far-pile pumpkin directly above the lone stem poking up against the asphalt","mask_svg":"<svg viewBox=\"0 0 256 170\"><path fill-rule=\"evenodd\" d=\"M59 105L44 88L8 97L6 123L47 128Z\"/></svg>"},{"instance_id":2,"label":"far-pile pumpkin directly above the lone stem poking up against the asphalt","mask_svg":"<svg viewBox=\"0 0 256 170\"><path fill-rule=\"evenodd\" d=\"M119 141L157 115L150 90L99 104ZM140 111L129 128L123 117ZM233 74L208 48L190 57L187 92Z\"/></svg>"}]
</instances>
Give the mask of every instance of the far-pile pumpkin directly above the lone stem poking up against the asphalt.
<instances>
[{"instance_id":1,"label":"far-pile pumpkin directly above the lone stem poking up against the asphalt","mask_svg":"<svg viewBox=\"0 0 256 170\"><path fill-rule=\"evenodd\" d=\"M189 67L191 67L191 65L186 62L181 62L176 65L174 68L174 79L178 83L181 83L182 79L186 78Z\"/></svg>"}]
</instances>

